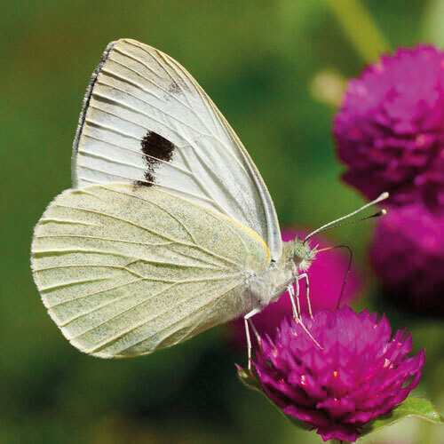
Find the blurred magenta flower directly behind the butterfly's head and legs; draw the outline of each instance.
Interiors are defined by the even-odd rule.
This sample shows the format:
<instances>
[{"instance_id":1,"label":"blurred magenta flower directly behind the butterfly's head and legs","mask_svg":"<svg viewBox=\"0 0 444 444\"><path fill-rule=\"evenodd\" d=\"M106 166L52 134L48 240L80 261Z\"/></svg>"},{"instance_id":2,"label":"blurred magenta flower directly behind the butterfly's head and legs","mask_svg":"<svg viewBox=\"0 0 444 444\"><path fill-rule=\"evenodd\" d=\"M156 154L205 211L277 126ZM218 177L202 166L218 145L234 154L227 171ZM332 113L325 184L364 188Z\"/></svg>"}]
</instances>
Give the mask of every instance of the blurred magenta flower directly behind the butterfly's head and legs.
<instances>
[{"instance_id":1,"label":"blurred magenta flower directly behind the butterfly's head and legs","mask_svg":"<svg viewBox=\"0 0 444 444\"><path fill-rule=\"evenodd\" d=\"M282 230L282 240L290 241L295 237L304 239L309 232L306 230L287 228ZM333 243L324 236L315 236L312 245L319 249L331 247ZM307 271L309 277L310 303L313 311L334 310L337 307L339 294L344 283L348 266L348 256L344 250L330 250L319 253ZM353 266L347 278L341 304L355 300L363 287L363 279L359 270ZM303 313L308 313L305 297L305 281L300 281L300 305ZM267 305L262 312L253 318L255 328L260 335L274 337L276 329L281 325L281 319L291 317L292 307L289 293L286 291L277 302ZM230 341L238 347L246 347L243 318L228 324Z\"/></svg>"}]
</instances>

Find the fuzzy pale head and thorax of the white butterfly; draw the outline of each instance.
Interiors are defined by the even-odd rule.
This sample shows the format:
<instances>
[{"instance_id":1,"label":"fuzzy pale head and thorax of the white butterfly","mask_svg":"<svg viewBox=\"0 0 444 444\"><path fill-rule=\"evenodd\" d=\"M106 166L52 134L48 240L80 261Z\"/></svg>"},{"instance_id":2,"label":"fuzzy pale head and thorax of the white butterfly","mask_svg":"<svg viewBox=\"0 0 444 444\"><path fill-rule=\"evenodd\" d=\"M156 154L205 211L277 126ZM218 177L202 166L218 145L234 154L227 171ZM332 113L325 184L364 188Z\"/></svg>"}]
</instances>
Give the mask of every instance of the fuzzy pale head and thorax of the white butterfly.
<instances>
[{"instance_id":1,"label":"fuzzy pale head and thorax of the white butterfly","mask_svg":"<svg viewBox=\"0 0 444 444\"><path fill-rule=\"evenodd\" d=\"M308 242L299 239L283 242L281 258L272 261L264 274L251 276L250 295L261 306L277 301L296 276L310 266L315 254L316 248L312 250Z\"/></svg>"}]
</instances>

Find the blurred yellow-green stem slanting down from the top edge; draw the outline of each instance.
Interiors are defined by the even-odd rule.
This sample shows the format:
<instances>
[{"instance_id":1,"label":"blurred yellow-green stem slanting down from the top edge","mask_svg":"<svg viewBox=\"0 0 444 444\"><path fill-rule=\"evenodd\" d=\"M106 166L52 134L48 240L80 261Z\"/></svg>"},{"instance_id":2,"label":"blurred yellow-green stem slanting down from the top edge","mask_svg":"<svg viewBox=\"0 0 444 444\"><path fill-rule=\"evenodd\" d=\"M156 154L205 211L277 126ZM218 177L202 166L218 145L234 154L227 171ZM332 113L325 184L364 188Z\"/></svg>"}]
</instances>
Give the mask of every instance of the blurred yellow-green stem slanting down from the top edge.
<instances>
[{"instance_id":1,"label":"blurred yellow-green stem slanting down from the top edge","mask_svg":"<svg viewBox=\"0 0 444 444\"><path fill-rule=\"evenodd\" d=\"M390 50L385 36L361 0L325 0L345 34L365 62L376 61Z\"/></svg>"}]
</instances>

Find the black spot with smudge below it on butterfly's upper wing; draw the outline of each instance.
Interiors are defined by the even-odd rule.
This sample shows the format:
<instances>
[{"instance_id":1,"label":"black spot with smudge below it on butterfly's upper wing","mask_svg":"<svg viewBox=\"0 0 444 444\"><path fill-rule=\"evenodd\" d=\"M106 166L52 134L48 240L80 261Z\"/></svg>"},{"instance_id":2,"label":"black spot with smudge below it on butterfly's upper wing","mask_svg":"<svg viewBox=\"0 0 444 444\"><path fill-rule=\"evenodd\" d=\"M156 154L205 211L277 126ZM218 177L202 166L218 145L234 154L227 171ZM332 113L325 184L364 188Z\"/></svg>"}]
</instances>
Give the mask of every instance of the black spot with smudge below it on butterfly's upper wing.
<instances>
[{"instance_id":1,"label":"black spot with smudge below it on butterfly's upper wing","mask_svg":"<svg viewBox=\"0 0 444 444\"><path fill-rule=\"evenodd\" d=\"M141 151L144 154L144 161L147 165L145 171L146 180L138 180L136 185L155 185L155 170L163 162L170 162L172 159L174 144L170 140L163 138L154 131L148 131L141 140Z\"/></svg>"}]
</instances>

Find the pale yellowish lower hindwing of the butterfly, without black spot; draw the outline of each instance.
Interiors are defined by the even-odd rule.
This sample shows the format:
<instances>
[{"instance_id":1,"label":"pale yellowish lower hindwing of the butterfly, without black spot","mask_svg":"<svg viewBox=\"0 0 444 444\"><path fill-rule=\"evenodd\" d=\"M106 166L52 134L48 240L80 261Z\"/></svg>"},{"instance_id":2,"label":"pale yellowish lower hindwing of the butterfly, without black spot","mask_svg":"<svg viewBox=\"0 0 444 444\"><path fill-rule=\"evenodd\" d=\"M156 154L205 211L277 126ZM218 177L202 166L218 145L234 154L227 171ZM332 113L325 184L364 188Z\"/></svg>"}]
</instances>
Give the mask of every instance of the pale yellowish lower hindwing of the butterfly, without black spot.
<instances>
[{"instance_id":1,"label":"pale yellowish lower hindwing of the butterfly, without black spot","mask_svg":"<svg viewBox=\"0 0 444 444\"><path fill-rule=\"evenodd\" d=\"M36 226L32 266L63 334L100 357L152 353L250 310L263 240L214 210L126 184L67 190Z\"/></svg>"}]
</instances>

